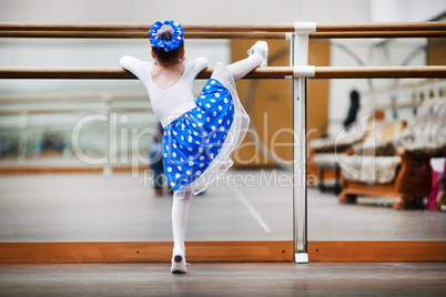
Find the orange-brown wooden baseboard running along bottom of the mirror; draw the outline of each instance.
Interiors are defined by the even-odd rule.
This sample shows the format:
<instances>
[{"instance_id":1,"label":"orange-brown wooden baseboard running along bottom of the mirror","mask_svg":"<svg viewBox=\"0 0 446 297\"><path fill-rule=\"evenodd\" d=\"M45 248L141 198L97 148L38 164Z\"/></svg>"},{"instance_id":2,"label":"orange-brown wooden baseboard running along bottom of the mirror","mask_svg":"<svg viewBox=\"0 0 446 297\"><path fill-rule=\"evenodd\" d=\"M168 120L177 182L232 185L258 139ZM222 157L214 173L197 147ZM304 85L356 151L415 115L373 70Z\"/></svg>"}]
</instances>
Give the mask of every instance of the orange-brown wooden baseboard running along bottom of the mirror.
<instances>
[{"instance_id":1,"label":"orange-brown wooden baseboard running along bottom of the mirror","mask_svg":"<svg viewBox=\"0 0 446 297\"><path fill-rule=\"evenodd\" d=\"M0 264L170 262L171 242L0 243ZM445 240L308 242L312 262L446 262ZM293 262L293 242L187 242L189 262Z\"/></svg>"}]
</instances>

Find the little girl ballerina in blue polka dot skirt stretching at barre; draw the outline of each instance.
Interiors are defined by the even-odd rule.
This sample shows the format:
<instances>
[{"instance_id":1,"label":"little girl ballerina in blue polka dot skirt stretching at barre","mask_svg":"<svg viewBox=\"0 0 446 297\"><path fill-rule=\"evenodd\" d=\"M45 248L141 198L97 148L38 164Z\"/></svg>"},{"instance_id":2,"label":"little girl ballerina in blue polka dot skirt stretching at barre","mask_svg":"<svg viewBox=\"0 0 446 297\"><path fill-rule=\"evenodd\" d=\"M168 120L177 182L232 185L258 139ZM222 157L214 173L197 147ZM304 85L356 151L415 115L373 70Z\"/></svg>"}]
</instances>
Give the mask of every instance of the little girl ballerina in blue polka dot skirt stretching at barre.
<instances>
[{"instance_id":1,"label":"little girl ballerina in blue polka dot skirt stretching at barre","mask_svg":"<svg viewBox=\"0 0 446 297\"><path fill-rule=\"evenodd\" d=\"M267 62L267 43L257 41L249 58L224 66L217 63L195 100L195 76L207 66L204 58L184 58L184 30L173 21L149 31L154 62L124 55L121 65L145 85L155 116L164 127L163 170L173 188L172 273L186 273L185 226L192 195L204 191L232 164L231 153L246 134L250 117L240 103L234 81Z\"/></svg>"}]
</instances>

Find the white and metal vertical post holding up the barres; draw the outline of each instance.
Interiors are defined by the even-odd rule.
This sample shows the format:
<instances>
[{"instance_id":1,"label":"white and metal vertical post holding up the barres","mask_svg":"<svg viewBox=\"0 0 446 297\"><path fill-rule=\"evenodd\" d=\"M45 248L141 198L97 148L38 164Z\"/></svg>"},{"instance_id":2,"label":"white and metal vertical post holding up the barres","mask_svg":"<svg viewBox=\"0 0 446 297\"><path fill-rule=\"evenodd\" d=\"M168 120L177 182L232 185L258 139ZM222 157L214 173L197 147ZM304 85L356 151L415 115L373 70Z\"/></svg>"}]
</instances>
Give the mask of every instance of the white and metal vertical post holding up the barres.
<instances>
[{"instance_id":1,"label":"white and metal vertical post holding up the barres","mask_svg":"<svg viewBox=\"0 0 446 297\"><path fill-rule=\"evenodd\" d=\"M292 65L308 65L308 33L316 23L296 22L292 40ZM307 193L306 193L306 78L293 79L293 239L295 263L308 263L307 253Z\"/></svg>"}]
</instances>

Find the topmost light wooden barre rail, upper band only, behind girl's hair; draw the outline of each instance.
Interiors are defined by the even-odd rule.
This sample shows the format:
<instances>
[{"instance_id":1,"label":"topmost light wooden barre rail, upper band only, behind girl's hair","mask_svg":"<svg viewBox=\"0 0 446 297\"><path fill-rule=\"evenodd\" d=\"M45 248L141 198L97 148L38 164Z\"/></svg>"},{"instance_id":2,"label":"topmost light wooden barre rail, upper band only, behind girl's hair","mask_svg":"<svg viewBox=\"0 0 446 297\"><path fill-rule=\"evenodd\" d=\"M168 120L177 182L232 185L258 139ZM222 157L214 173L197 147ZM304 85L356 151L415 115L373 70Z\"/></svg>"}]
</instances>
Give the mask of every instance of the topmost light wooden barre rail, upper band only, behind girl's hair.
<instances>
[{"instance_id":1,"label":"topmost light wooden barre rail, upper band only, behind girl's hair","mask_svg":"<svg viewBox=\"0 0 446 297\"><path fill-rule=\"evenodd\" d=\"M0 31L148 31L151 23L28 23L0 22ZM294 32L294 23L183 24L189 32ZM436 31L446 22L316 23L316 32Z\"/></svg>"}]
</instances>

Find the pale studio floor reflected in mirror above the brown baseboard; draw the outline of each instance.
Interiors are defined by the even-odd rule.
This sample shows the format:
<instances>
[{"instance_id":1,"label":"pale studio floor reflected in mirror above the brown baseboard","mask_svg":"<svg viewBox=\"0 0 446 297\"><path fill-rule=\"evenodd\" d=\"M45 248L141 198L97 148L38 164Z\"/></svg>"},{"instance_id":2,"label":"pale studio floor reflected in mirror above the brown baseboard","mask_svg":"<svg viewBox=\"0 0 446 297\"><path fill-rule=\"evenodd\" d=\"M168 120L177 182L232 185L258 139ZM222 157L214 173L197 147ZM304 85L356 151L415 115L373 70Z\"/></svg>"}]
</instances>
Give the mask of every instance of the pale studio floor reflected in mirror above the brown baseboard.
<instances>
[{"instance_id":1,"label":"pale studio floor reflected in mirror above the brown baseboard","mask_svg":"<svg viewBox=\"0 0 446 297\"><path fill-rule=\"evenodd\" d=\"M292 240L291 173L233 170L195 196L187 240ZM394 211L392 198L338 204L308 188L308 240L446 239L446 213ZM171 240L171 196L143 174L0 176L1 242Z\"/></svg>"}]
</instances>

